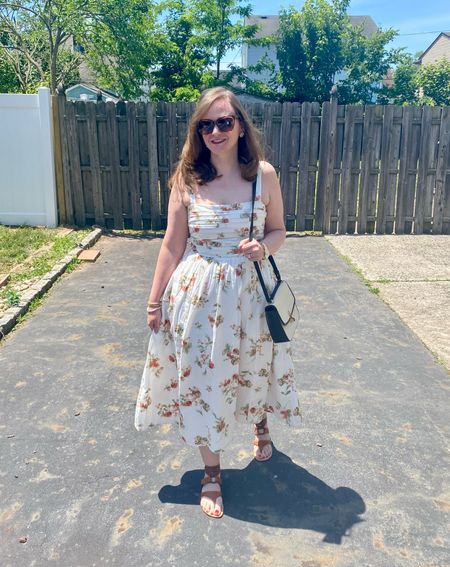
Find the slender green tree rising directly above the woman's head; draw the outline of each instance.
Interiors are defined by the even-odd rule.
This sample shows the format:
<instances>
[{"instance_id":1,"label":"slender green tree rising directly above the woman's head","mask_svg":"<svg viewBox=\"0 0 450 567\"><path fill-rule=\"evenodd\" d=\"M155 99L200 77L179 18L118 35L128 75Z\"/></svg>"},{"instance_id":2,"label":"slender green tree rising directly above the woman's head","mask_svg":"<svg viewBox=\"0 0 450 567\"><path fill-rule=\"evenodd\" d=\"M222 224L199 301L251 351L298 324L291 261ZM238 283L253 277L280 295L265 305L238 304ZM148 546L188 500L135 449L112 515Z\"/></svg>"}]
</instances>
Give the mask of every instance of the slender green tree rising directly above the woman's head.
<instances>
[{"instance_id":1,"label":"slender green tree rising directly above the woman's head","mask_svg":"<svg viewBox=\"0 0 450 567\"><path fill-rule=\"evenodd\" d=\"M214 78L220 77L220 63L227 51L251 42L258 30L256 25L245 25L250 16L250 4L242 0L191 0L198 44L209 53L214 64ZM238 17L238 21L234 21Z\"/></svg>"}]
</instances>

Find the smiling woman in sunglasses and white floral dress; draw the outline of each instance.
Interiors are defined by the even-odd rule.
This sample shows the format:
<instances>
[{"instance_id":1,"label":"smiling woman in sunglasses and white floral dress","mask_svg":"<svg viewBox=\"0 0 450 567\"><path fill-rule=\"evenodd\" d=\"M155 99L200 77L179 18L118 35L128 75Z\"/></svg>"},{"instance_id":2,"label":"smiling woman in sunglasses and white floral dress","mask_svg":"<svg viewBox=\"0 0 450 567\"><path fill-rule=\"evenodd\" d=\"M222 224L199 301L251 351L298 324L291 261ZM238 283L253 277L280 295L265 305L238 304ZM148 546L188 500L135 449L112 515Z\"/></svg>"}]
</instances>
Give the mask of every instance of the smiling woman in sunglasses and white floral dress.
<instances>
[{"instance_id":1,"label":"smiling woman in sunglasses and white floral dress","mask_svg":"<svg viewBox=\"0 0 450 567\"><path fill-rule=\"evenodd\" d=\"M236 422L255 424L254 457L272 456L266 413L299 419L289 343L274 344L253 265L284 242L281 191L239 100L206 90L170 180L167 231L147 306L153 331L135 427L175 420L205 465L201 507L223 515L220 452ZM256 179L254 238L248 239Z\"/></svg>"}]
</instances>

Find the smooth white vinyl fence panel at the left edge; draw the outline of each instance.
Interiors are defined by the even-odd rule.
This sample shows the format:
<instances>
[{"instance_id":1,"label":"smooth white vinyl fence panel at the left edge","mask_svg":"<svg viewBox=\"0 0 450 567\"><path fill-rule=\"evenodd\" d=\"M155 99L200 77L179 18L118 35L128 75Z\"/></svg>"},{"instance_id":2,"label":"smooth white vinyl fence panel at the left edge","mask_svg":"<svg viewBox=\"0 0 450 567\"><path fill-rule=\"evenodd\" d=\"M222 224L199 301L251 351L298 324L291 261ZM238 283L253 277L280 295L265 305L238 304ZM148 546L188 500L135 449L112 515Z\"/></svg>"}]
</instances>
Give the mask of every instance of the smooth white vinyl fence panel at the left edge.
<instances>
[{"instance_id":1,"label":"smooth white vinyl fence panel at the left edge","mask_svg":"<svg viewBox=\"0 0 450 567\"><path fill-rule=\"evenodd\" d=\"M0 224L57 223L50 91L0 94Z\"/></svg>"}]
</instances>

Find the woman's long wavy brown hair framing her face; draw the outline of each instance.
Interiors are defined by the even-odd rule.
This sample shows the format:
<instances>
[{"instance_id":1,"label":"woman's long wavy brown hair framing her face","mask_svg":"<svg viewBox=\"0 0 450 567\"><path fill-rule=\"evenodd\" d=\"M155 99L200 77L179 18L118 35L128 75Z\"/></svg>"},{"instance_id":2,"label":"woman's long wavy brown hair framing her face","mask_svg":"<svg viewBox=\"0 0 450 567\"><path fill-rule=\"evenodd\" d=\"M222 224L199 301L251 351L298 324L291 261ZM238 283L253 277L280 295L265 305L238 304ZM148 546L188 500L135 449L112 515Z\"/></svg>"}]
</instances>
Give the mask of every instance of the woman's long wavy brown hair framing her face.
<instances>
[{"instance_id":1,"label":"woman's long wavy brown hair framing her face","mask_svg":"<svg viewBox=\"0 0 450 567\"><path fill-rule=\"evenodd\" d=\"M206 89L197 103L189 122L180 161L169 180L171 189L193 191L197 185L204 185L218 177L217 170L211 163L211 152L198 131L198 122L210 106L219 99L225 99L231 104L244 132L244 136L238 138L238 161L241 175L247 181L255 179L259 162L263 159L260 133L236 95L223 87L214 87Z\"/></svg>"}]
</instances>

